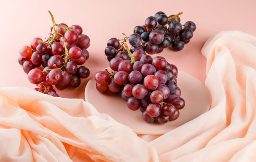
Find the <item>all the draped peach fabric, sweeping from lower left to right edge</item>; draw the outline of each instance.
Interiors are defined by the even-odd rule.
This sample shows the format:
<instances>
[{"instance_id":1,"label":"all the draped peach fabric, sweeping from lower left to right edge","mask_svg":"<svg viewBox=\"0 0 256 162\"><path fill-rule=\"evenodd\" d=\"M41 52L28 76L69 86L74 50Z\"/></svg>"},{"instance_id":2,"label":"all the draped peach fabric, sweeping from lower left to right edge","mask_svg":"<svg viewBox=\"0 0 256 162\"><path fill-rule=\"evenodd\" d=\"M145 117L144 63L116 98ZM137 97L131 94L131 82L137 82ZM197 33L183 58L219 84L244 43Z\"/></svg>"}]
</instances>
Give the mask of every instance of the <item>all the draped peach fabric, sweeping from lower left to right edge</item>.
<instances>
[{"instance_id":1,"label":"all the draped peach fabric, sweeping from lower left to right edge","mask_svg":"<svg viewBox=\"0 0 256 162\"><path fill-rule=\"evenodd\" d=\"M159 136L137 135L82 99L0 88L0 161L255 161L256 37L222 31L202 54L211 109Z\"/></svg>"}]
</instances>

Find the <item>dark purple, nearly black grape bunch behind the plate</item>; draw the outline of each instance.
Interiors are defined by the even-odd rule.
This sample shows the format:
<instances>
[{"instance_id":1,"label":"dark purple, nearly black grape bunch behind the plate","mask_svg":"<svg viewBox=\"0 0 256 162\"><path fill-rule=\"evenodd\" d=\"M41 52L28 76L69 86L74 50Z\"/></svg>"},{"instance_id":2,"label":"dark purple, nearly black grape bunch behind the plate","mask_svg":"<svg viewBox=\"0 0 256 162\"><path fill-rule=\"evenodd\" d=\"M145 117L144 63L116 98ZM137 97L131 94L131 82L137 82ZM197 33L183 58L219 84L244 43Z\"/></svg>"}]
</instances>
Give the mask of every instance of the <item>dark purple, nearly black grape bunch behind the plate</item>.
<instances>
[{"instance_id":1,"label":"dark purple, nearly black grape bunch behind the plate","mask_svg":"<svg viewBox=\"0 0 256 162\"><path fill-rule=\"evenodd\" d=\"M144 25L136 26L130 35L131 50L144 48L150 55L161 53L167 47L174 51L182 50L193 37L196 26L192 21L182 25L181 14L167 16L159 11L155 16L146 18Z\"/></svg>"}]
</instances>

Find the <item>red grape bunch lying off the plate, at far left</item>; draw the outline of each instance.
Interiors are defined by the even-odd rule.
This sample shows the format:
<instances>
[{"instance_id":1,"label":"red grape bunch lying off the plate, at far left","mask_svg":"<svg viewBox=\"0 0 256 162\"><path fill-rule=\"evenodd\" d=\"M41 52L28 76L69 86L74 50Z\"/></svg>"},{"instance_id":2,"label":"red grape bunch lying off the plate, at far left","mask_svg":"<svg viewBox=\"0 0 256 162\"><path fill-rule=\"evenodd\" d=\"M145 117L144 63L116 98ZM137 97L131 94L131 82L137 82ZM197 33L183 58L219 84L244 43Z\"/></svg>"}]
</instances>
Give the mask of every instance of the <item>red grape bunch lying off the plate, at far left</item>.
<instances>
[{"instance_id":1,"label":"red grape bunch lying off the plate, at far left","mask_svg":"<svg viewBox=\"0 0 256 162\"><path fill-rule=\"evenodd\" d=\"M58 90L77 88L81 79L89 77L90 70L83 64L89 59L90 38L79 25L56 24L48 12L53 23L49 37L35 37L30 46L22 46L18 62L28 80L37 85L34 90L58 96L53 86Z\"/></svg>"}]
</instances>

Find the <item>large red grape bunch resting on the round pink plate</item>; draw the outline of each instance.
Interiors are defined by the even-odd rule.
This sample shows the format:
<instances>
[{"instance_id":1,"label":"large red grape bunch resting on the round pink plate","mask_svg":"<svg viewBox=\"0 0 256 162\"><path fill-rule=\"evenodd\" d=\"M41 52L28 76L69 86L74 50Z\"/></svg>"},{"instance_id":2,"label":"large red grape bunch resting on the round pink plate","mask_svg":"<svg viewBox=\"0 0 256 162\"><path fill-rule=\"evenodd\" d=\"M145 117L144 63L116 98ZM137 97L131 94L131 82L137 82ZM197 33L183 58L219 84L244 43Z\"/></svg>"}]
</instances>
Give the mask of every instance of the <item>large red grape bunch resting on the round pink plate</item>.
<instances>
[{"instance_id":1,"label":"large red grape bunch resting on the round pink plate","mask_svg":"<svg viewBox=\"0 0 256 162\"><path fill-rule=\"evenodd\" d=\"M162 56L152 58L144 49L131 52L127 39L130 44L136 43L130 37L108 40L105 54L115 56L108 57L110 72L105 69L95 74L96 89L120 93L129 109L140 109L146 123L176 120L185 106L177 86L177 67Z\"/></svg>"}]
</instances>

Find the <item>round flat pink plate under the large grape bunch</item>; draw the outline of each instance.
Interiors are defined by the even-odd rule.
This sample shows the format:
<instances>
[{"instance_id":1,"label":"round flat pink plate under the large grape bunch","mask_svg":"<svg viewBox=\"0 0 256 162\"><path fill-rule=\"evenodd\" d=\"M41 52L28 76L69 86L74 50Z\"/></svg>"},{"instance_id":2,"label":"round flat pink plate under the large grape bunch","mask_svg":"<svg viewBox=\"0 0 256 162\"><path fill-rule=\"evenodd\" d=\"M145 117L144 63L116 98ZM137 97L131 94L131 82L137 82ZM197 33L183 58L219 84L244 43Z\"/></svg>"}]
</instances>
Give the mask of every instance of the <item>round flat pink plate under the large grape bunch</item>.
<instances>
[{"instance_id":1,"label":"round flat pink plate under the large grape bunch","mask_svg":"<svg viewBox=\"0 0 256 162\"><path fill-rule=\"evenodd\" d=\"M110 71L110 68L108 70ZM141 111L139 109L136 111L130 110L121 94L100 93L97 91L95 84L96 81L92 77L85 87L85 100L94 105L99 112L108 114L117 122L130 127L136 134L165 134L207 112L211 106L211 97L205 85L195 77L180 70L177 85L181 89L181 97L186 104L180 110L179 118L165 124L144 122L141 118Z\"/></svg>"}]
</instances>

